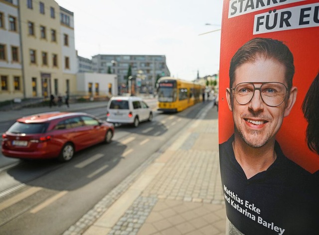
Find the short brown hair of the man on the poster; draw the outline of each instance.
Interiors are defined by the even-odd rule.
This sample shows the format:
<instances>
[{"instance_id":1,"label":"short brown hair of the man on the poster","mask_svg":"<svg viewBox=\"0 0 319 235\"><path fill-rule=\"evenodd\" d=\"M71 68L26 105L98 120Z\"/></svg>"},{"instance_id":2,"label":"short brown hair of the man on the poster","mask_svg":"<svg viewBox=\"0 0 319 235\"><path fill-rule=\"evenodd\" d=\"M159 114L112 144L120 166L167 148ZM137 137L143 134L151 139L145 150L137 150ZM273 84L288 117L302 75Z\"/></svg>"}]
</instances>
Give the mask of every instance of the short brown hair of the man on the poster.
<instances>
[{"instance_id":1,"label":"short brown hair of the man on the poster","mask_svg":"<svg viewBox=\"0 0 319 235\"><path fill-rule=\"evenodd\" d=\"M230 61L230 88L232 88L235 81L236 69L242 64L255 62L260 57L276 60L286 67L285 78L290 91L295 74L293 54L282 41L272 38L254 38L238 49Z\"/></svg>"}]
</instances>

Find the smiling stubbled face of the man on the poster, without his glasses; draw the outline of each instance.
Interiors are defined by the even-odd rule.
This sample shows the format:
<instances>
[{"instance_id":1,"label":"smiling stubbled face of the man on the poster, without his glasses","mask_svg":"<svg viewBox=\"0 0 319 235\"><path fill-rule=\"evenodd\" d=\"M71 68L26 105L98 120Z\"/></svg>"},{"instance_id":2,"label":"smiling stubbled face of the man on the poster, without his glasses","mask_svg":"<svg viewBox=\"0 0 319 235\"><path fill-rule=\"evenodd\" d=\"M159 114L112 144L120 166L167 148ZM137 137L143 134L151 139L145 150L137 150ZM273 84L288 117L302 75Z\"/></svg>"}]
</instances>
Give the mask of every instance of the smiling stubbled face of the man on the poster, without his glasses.
<instances>
[{"instance_id":1,"label":"smiling stubbled face of the man on the poster, without his glasses","mask_svg":"<svg viewBox=\"0 0 319 235\"><path fill-rule=\"evenodd\" d=\"M245 82L254 83L255 88L260 88L263 82L279 82L287 87L285 72L286 68L282 63L271 58L259 57L256 61L244 63L235 70L232 88ZM292 88L292 93L289 99L287 93L284 102L279 106L270 107L263 102L261 91L255 90L251 101L246 105L240 105L235 99L234 91L228 88L226 97L228 107L233 112L235 136L239 135L246 144L255 148L275 140L283 118L289 115L296 100L297 88Z\"/></svg>"}]
</instances>

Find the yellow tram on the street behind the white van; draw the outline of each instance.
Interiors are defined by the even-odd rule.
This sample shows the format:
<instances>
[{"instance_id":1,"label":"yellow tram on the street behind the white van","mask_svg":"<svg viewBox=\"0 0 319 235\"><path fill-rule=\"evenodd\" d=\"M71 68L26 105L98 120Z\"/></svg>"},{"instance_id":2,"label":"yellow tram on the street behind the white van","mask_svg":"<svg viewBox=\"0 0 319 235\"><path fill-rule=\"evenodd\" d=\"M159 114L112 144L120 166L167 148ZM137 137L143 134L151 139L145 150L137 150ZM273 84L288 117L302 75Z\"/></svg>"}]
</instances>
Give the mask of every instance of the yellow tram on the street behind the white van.
<instances>
[{"instance_id":1,"label":"yellow tram on the street behind the white van","mask_svg":"<svg viewBox=\"0 0 319 235\"><path fill-rule=\"evenodd\" d=\"M194 82L162 77L158 81L158 110L180 112L202 101L205 87Z\"/></svg>"}]
</instances>

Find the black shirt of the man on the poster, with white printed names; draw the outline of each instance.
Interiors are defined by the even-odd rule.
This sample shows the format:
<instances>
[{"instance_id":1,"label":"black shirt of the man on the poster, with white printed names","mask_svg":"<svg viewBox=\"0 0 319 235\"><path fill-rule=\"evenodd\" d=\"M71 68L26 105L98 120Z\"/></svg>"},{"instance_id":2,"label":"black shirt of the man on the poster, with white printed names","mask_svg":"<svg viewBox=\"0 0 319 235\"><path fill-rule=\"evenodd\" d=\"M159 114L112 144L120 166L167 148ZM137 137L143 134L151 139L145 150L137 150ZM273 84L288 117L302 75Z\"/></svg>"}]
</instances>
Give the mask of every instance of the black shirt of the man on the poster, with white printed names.
<instances>
[{"instance_id":1,"label":"black shirt of the man on the poster, with white printed names","mask_svg":"<svg viewBox=\"0 0 319 235\"><path fill-rule=\"evenodd\" d=\"M247 179L235 159L234 136L219 145L220 170L229 221L245 235L319 235L319 183L289 160L279 143L277 158Z\"/></svg>"}]
</instances>

